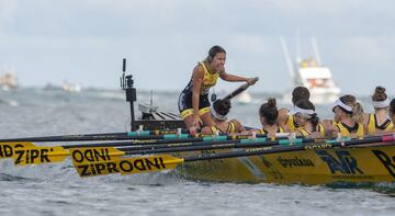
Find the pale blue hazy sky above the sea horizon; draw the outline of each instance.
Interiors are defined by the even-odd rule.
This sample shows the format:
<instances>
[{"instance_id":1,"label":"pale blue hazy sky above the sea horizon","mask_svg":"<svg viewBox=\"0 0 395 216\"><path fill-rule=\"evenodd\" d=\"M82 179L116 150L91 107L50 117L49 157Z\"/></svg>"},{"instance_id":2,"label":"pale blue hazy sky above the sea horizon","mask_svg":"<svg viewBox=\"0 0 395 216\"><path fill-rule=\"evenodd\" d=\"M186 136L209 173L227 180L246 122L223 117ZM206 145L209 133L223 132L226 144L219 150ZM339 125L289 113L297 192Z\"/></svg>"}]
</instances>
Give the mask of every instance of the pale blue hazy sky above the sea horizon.
<instances>
[{"instance_id":1,"label":"pale blue hazy sky above the sea horizon","mask_svg":"<svg viewBox=\"0 0 395 216\"><path fill-rule=\"evenodd\" d=\"M280 35L303 57L314 35L345 93L394 94L395 3L390 0L0 0L0 66L22 86L119 88L122 58L136 87L181 90L212 45L228 72L261 79L251 91L283 92L291 80ZM221 82L221 89L237 84Z\"/></svg>"}]
</instances>

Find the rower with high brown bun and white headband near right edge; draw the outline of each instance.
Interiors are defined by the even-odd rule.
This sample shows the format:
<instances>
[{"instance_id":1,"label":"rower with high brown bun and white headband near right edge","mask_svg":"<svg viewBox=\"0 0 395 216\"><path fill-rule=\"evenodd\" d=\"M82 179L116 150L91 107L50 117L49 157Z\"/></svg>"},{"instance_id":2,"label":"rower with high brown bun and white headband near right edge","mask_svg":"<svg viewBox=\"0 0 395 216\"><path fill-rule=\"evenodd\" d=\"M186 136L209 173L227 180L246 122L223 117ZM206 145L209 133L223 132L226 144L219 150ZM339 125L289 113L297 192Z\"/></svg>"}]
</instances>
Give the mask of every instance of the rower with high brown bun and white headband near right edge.
<instances>
[{"instance_id":1,"label":"rower with high brown bun and white headband near right edge","mask_svg":"<svg viewBox=\"0 0 395 216\"><path fill-rule=\"evenodd\" d=\"M374 113L365 113L363 125L368 128L369 135L382 134L393 129L394 124L388 116L390 100L385 88L376 87L372 95Z\"/></svg>"}]
</instances>

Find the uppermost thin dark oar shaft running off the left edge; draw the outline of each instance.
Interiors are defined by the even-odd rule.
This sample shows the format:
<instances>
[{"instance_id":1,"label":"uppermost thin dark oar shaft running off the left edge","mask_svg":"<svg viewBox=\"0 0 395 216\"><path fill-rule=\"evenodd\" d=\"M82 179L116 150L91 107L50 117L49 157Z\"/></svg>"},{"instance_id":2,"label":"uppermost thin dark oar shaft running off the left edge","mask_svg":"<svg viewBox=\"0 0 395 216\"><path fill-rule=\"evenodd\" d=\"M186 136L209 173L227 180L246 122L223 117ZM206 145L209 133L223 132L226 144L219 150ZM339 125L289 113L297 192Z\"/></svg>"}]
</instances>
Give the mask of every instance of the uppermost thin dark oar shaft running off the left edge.
<instances>
[{"instance_id":1,"label":"uppermost thin dark oar shaft running off the left edge","mask_svg":"<svg viewBox=\"0 0 395 216\"><path fill-rule=\"evenodd\" d=\"M0 139L5 141L87 141L87 140L126 140L126 139L161 139L165 135L176 135L177 133L185 134L187 129L180 130L136 130L125 133L108 133L108 134L76 134L60 136L43 136L43 137L24 137Z\"/></svg>"}]
</instances>

